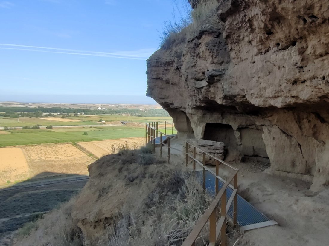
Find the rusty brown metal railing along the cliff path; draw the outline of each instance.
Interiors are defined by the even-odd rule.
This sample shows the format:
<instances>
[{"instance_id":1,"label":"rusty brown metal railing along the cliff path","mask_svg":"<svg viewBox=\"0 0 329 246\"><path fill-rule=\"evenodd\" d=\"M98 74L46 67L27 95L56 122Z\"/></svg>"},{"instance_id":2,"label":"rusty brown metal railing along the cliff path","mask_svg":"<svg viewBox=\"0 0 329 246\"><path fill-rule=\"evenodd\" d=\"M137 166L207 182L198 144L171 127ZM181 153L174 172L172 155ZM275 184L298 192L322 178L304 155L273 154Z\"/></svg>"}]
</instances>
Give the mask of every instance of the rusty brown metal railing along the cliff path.
<instances>
[{"instance_id":1,"label":"rusty brown metal railing along the cliff path","mask_svg":"<svg viewBox=\"0 0 329 246\"><path fill-rule=\"evenodd\" d=\"M179 150L177 148L170 146L170 139L173 139L173 137L162 133L158 129L157 122L152 123L146 123L145 124L145 144L152 144L153 145L153 151L155 152L156 147L156 138L159 136L160 133L160 141L159 145L161 145L160 148L160 155L162 156L162 146L166 146L168 148L168 162L170 161L170 149L174 149L180 152L183 152L182 150ZM166 137L166 143L163 141L163 136ZM233 225L237 226L237 194L238 194L238 172L239 170L232 167L225 161L216 158L214 155L211 155L209 153L206 153L202 149L194 146L193 144L183 141L185 143L185 160L186 160L186 166L189 165L189 160L192 159L193 162L193 171L196 170L196 164L200 165L202 167L202 187L205 191L206 188L206 170L213 174L215 176L215 198L211 202L208 209L205 211L205 213L199 218L199 220L196 222L193 230L187 236L185 241L183 242L182 246L194 246L195 241L198 238L199 234L201 233L202 229L205 227L207 222L209 221L209 245L215 246L216 242L218 240L221 241L221 246L226 245L226 216L228 213L229 208L232 205L233 202ZM193 155L189 153L189 146L193 147ZM199 161L196 158L196 150L201 151L203 160L202 162ZM210 158L213 158L215 160L215 173L206 166L206 156L209 156ZM222 180L219 176L219 165L223 164L233 170L233 174L225 181L224 185L221 186L219 189L218 183ZM226 202L226 188L230 185L230 183L233 181L233 192L231 196L228 198ZM220 209L220 216L216 213L216 208L219 205L221 206Z\"/></svg>"}]
</instances>

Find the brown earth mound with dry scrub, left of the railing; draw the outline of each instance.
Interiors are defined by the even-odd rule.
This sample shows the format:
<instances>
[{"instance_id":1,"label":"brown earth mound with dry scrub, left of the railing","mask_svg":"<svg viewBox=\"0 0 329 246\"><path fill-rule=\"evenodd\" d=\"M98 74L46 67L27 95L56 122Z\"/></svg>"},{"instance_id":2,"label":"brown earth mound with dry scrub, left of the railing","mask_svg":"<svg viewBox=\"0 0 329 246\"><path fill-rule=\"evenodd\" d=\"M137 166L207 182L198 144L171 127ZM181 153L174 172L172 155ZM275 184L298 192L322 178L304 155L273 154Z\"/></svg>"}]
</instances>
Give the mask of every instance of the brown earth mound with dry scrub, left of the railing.
<instances>
[{"instance_id":1,"label":"brown earth mound with dry scrub, left of the railing","mask_svg":"<svg viewBox=\"0 0 329 246\"><path fill-rule=\"evenodd\" d=\"M193 175L150 152L143 147L93 163L80 195L38 220L15 246L181 245L210 197ZM206 245L206 235L196 245Z\"/></svg>"}]
</instances>

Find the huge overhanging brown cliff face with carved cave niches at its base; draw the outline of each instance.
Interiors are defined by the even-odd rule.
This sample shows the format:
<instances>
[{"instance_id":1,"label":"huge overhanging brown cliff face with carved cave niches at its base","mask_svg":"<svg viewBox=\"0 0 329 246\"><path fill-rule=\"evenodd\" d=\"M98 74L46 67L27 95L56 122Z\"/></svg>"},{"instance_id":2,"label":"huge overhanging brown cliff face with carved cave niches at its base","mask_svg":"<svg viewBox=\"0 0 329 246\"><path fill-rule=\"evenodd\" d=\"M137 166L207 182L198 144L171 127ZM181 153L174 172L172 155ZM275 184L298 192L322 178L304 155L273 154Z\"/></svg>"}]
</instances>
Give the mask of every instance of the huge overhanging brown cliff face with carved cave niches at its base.
<instances>
[{"instance_id":1,"label":"huge overhanging brown cliff face with carved cave niches at its base","mask_svg":"<svg viewBox=\"0 0 329 246\"><path fill-rule=\"evenodd\" d=\"M324 0L219 1L148 59L147 95L181 135L269 158L273 170L313 176L311 189L321 189L329 185L328 25Z\"/></svg>"}]
</instances>

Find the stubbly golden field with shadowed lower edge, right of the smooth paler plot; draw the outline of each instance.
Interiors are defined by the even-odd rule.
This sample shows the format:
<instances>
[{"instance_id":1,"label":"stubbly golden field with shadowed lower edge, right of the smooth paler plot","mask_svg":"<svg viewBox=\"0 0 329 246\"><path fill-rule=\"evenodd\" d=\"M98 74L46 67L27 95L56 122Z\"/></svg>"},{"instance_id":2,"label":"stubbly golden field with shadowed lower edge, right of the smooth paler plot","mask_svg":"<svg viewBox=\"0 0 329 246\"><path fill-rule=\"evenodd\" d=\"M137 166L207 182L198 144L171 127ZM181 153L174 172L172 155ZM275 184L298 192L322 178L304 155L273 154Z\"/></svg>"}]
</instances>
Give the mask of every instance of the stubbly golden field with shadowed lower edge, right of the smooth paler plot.
<instances>
[{"instance_id":1,"label":"stubbly golden field with shadowed lower edge, right of the smooth paler plot","mask_svg":"<svg viewBox=\"0 0 329 246\"><path fill-rule=\"evenodd\" d=\"M88 174L94 160L72 144L42 144L20 147L29 165L31 177L61 174Z\"/></svg>"}]
</instances>

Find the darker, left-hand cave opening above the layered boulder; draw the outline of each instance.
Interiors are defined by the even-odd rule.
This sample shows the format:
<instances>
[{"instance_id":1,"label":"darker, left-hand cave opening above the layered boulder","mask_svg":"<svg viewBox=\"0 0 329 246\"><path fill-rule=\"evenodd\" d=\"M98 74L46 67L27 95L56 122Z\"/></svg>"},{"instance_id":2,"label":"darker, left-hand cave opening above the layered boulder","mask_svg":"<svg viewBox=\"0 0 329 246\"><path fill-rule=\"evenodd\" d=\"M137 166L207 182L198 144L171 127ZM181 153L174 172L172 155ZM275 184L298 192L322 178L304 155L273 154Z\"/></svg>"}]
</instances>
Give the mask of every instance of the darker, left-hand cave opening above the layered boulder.
<instances>
[{"instance_id":1,"label":"darker, left-hand cave opening above the layered boulder","mask_svg":"<svg viewBox=\"0 0 329 246\"><path fill-rule=\"evenodd\" d=\"M229 146L237 149L237 139L231 125L221 123L207 123L203 139L223 142L225 149Z\"/></svg>"}]
</instances>

